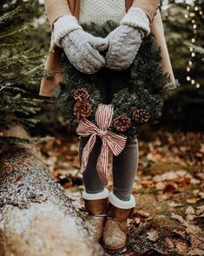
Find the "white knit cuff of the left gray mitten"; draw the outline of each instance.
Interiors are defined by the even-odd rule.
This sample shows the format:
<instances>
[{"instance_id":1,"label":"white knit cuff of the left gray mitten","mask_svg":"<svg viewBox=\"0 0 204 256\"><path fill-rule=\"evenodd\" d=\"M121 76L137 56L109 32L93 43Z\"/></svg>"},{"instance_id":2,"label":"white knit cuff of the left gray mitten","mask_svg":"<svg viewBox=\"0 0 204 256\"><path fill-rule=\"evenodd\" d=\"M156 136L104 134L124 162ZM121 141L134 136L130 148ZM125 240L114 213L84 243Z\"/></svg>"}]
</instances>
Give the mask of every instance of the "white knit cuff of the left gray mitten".
<instances>
[{"instance_id":1,"label":"white knit cuff of the left gray mitten","mask_svg":"<svg viewBox=\"0 0 204 256\"><path fill-rule=\"evenodd\" d=\"M62 47L61 40L73 30L82 30L82 26L78 24L76 17L72 15L59 17L54 24L53 30L56 45Z\"/></svg>"}]
</instances>

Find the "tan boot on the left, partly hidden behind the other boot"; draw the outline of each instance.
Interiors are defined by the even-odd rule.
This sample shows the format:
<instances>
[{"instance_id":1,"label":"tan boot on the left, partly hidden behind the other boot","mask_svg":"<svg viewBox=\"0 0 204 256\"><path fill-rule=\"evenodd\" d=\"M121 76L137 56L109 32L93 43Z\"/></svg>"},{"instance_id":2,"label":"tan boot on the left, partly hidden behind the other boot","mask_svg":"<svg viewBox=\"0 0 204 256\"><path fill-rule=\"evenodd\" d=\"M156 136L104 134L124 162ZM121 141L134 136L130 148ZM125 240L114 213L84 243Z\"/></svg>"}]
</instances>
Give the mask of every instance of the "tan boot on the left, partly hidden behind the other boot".
<instances>
[{"instance_id":1,"label":"tan boot on the left, partly hidden behind the other boot","mask_svg":"<svg viewBox=\"0 0 204 256\"><path fill-rule=\"evenodd\" d=\"M95 242L99 242L102 237L103 226L107 216L109 191L104 189L103 192L95 194L83 192L82 197L85 209L89 212L84 219L85 226L88 228Z\"/></svg>"}]
</instances>

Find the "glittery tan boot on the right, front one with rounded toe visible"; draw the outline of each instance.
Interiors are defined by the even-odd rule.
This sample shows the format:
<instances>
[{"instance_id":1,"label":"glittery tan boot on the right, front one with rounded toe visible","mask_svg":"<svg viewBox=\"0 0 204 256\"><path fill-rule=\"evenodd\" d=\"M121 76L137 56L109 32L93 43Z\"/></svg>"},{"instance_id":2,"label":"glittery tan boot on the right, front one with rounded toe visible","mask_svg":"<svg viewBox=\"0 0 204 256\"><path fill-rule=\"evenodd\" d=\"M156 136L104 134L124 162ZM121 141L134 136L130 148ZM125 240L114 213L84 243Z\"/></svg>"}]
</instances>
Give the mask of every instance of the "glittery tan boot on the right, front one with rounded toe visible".
<instances>
[{"instance_id":1,"label":"glittery tan boot on the right, front one with rounded toe visible","mask_svg":"<svg viewBox=\"0 0 204 256\"><path fill-rule=\"evenodd\" d=\"M129 201L117 199L110 192L109 208L102 234L102 246L109 253L119 253L126 245L128 222L135 209L135 198Z\"/></svg>"}]
</instances>

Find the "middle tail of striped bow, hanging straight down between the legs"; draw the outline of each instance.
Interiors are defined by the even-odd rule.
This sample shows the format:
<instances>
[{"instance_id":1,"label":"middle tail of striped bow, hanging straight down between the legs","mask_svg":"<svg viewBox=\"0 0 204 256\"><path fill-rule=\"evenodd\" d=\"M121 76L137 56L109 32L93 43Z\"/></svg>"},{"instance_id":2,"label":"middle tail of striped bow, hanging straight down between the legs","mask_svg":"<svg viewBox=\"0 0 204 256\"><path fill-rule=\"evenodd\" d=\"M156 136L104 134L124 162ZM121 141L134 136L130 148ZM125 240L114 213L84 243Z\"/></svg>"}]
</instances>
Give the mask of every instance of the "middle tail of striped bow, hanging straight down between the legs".
<instances>
[{"instance_id":1,"label":"middle tail of striped bow, hanging straight down between the legs","mask_svg":"<svg viewBox=\"0 0 204 256\"><path fill-rule=\"evenodd\" d=\"M103 185L108 184L108 164L109 164L109 146L105 140L102 140L102 150L97 159L97 172Z\"/></svg>"}]
</instances>

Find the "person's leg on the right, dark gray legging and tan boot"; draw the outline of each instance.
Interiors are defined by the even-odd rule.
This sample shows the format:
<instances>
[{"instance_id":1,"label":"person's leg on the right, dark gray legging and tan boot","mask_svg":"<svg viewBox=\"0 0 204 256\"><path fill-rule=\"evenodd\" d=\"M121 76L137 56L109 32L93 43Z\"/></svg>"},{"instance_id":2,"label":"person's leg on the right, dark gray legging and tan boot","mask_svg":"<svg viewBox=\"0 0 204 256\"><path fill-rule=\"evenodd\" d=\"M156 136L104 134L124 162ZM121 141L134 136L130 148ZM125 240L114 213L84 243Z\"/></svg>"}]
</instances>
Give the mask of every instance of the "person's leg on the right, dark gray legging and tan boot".
<instances>
[{"instance_id":1,"label":"person's leg on the right, dark gray legging and tan boot","mask_svg":"<svg viewBox=\"0 0 204 256\"><path fill-rule=\"evenodd\" d=\"M115 92L128 86L128 70L110 72L109 100ZM122 250L128 233L127 219L135 209L135 197L132 189L138 166L137 138L127 139L123 151L112 155L113 191L109 192L109 207L104 225L102 242L109 250Z\"/></svg>"}]
</instances>

